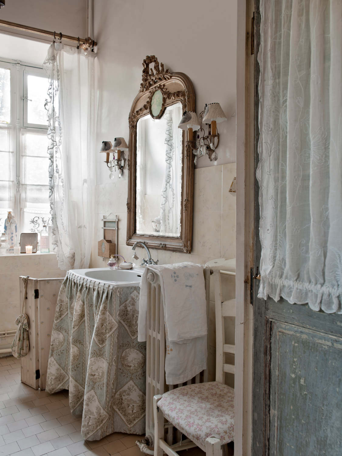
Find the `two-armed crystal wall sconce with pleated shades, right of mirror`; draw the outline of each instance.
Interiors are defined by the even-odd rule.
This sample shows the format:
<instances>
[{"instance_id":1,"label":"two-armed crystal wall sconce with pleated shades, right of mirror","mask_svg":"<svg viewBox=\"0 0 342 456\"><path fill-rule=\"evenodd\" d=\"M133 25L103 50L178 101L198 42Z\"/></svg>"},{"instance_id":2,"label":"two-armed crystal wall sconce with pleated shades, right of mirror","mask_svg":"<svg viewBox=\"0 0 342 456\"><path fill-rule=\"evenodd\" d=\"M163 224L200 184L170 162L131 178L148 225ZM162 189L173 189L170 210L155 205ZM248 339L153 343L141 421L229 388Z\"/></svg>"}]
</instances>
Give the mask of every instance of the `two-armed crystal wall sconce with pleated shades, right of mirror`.
<instances>
[{"instance_id":1,"label":"two-armed crystal wall sconce with pleated shades, right of mirror","mask_svg":"<svg viewBox=\"0 0 342 456\"><path fill-rule=\"evenodd\" d=\"M200 121L196 113L185 111L184 116L178 125L182 130L188 129L189 140L187 143L190 145L193 154L195 155L195 165L197 165L197 160L205 154L208 154L210 161L216 161L218 159L216 149L219 146L219 132L217 131L216 124L227 120L219 103L205 105L205 109L199 114L199 118L201 119ZM202 123L209 124L208 135L206 136ZM198 146L197 140L193 139L193 130L203 131L202 138L200 138L199 133L197 134L197 140L199 140Z\"/></svg>"}]
</instances>

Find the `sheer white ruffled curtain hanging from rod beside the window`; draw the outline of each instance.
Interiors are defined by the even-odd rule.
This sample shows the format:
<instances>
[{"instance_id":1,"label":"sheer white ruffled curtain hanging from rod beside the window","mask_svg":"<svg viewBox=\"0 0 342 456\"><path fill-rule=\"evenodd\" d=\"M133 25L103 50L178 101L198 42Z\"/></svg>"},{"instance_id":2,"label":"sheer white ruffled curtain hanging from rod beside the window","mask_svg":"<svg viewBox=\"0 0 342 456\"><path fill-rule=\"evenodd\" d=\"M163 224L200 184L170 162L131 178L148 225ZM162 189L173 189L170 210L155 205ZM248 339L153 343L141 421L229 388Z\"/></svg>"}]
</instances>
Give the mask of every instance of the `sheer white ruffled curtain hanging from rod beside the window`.
<instances>
[{"instance_id":1,"label":"sheer white ruffled curtain hanging from rod beside the window","mask_svg":"<svg viewBox=\"0 0 342 456\"><path fill-rule=\"evenodd\" d=\"M51 44L44 62L48 109L49 197L58 267L89 267L95 195L94 52Z\"/></svg>"}]
</instances>

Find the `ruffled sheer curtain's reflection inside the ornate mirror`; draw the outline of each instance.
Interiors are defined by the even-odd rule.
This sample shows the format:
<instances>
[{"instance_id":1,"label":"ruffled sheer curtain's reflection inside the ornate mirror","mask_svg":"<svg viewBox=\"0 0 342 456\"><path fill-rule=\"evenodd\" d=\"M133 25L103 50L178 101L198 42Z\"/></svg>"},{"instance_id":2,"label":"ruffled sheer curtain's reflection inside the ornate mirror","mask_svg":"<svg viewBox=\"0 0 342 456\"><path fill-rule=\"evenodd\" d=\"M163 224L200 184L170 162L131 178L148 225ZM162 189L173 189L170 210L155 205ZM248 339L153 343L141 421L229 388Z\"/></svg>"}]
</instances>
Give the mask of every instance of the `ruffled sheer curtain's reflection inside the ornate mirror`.
<instances>
[{"instance_id":1,"label":"ruffled sheer curtain's reflection inside the ornate mirror","mask_svg":"<svg viewBox=\"0 0 342 456\"><path fill-rule=\"evenodd\" d=\"M180 234L180 192L181 192L181 141L178 124L181 109L169 109L166 117L165 132L165 176L160 206L160 232Z\"/></svg>"}]
</instances>

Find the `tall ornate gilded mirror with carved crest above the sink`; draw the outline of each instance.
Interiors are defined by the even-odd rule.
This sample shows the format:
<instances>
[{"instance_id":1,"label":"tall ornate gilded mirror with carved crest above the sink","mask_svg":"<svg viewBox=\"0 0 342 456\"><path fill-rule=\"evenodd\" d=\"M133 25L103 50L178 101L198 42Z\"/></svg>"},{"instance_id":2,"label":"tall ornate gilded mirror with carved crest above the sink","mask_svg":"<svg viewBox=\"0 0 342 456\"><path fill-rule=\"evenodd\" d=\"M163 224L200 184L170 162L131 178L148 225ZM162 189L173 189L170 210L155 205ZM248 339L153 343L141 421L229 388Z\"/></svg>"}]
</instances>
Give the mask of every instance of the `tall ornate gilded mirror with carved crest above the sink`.
<instances>
[{"instance_id":1,"label":"tall ornate gilded mirror with carved crest above the sink","mask_svg":"<svg viewBox=\"0 0 342 456\"><path fill-rule=\"evenodd\" d=\"M194 155L178 125L184 111L194 110L188 76L147 56L128 118L127 245L139 240L152 249L191 252Z\"/></svg>"}]
</instances>

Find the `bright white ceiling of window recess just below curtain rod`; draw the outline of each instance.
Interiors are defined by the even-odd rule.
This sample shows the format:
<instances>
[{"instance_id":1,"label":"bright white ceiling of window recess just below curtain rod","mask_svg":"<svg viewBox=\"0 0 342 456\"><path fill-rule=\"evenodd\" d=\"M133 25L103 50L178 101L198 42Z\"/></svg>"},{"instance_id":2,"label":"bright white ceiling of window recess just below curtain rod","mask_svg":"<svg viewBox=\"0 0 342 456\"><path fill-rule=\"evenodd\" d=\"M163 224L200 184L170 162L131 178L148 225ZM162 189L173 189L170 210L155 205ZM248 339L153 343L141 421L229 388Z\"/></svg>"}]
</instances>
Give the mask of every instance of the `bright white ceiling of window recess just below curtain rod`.
<instances>
[{"instance_id":1,"label":"bright white ceiling of window recess just below curtain rod","mask_svg":"<svg viewBox=\"0 0 342 456\"><path fill-rule=\"evenodd\" d=\"M0 33L0 58L42 65L50 45L41 41Z\"/></svg>"}]
</instances>

